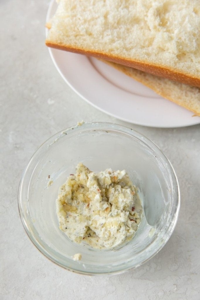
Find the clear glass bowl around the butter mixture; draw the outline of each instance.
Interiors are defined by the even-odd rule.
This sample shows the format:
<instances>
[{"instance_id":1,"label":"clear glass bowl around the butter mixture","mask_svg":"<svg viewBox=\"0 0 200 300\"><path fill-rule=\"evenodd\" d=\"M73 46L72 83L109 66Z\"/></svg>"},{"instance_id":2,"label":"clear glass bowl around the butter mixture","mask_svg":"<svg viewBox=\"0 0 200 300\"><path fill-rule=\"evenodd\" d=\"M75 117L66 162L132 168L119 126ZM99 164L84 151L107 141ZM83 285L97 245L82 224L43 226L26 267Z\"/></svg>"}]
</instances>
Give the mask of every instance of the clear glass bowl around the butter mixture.
<instances>
[{"instance_id":1,"label":"clear glass bowl around the butter mixture","mask_svg":"<svg viewBox=\"0 0 200 300\"><path fill-rule=\"evenodd\" d=\"M58 189L79 162L94 172L125 169L139 188L142 221L133 239L116 249L76 244L59 229ZM55 134L34 153L19 185L19 213L31 241L56 264L82 274L120 273L146 262L171 236L179 206L177 177L166 156L142 134L112 123ZM82 259L73 261L75 253Z\"/></svg>"}]
</instances>

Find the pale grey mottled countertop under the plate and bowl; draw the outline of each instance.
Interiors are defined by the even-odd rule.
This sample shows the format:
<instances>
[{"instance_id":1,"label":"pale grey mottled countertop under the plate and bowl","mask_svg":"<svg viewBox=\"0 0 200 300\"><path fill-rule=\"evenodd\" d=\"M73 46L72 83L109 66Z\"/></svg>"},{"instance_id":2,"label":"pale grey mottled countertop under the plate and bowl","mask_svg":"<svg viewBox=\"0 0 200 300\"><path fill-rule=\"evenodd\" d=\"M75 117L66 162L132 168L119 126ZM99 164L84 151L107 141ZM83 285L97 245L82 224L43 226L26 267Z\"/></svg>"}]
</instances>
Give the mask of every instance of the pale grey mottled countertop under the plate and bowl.
<instances>
[{"instance_id":1,"label":"pale grey mottled countertop under the plate and bowl","mask_svg":"<svg viewBox=\"0 0 200 300\"><path fill-rule=\"evenodd\" d=\"M122 275L90 277L54 265L28 239L17 207L25 165L40 144L77 120L130 124L91 107L67 86L44 44L49 1L1 1L0 299L200 299L200 125L131 125L168 156L181 210L166 246Z\"/></svg>"}]
</instances>

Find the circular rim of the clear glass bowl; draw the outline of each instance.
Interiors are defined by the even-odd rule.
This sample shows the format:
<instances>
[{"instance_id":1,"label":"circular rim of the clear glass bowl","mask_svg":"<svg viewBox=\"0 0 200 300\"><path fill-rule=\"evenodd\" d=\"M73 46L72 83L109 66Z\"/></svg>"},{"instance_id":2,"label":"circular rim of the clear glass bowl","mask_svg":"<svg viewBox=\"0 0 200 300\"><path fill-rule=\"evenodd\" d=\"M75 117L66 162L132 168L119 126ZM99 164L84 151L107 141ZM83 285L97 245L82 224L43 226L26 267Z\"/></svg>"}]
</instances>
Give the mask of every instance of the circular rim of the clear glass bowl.
<instances>
[{"instance_id":1,"label":"circular rim of the clear glass bowl","mask_svg":"<svg viewBox=\"0 0 200 300\"><path fill-rule=\"evenodd\" d=\"M41 244L38 242L37 238L34 236L33 232L31 232L28 224L25 221L25 217L23 216L23 214L26 215L27 211L23 211L22 209L22 205L21 205L21 192L23 190L23 182L24 179L26 177L27 174L27 170L29 168L29 166L31 165L31 162L33 161L34 157L37 155L37 153L48 143L48 146L51 146L52 144L54 144L59 138L63 137L64 135L70 134L70 133L75 133L76 131L80 131L84 130L84 131L88 131L89 129L91 131L98 129L98 130L103 130L106 131L106 129L108 130L117 130L120 131L121 133L124 134L129 134L132 137L138 138L142 143L144 143L146 146L150 147L153 150L157 150L158 152L160 152L160 155L162 156L162 158L164 158L164 160L169 164L169 166L167 167L167 170L169 172L169 174L172 174L174 176L174 182L175 183L175 195L177 198L177 205L176 205L176 209L174 211L174 214L172 215L172 219L173 221L170 222L169 226L167 227L167 229L165 230L164 236L165 237L164 241L162 244L160 244L160 247L157 247L156 251L154 251L153 253L151 253L151 255L149 255L146 259L143 259L140 263L138 263L137 265L131 265L131 266L127 266L124 267L123 269L119 269L118 271L103 271L103 272L92 272L92 271L82 271L79 270L79 268L70 268L66 265L63 265L62 263L60 263L55 257L53 257L51 254L49 254L49 252L41 246ZM49 143L51 142L51 143ZM147 262L148 260L150 260L152 257L154 257L163 247L164 245L167 243L167 241L169 240L170 236L172 235L177 220L178 220L178 214L180 211L180 188L179 188L179 184L178 184L178 179L175 173L175 170L171 164L171 162L169 161L169 159L166 157L166 155L162 152L162 150L153 142L151 141L148 137L146 137L145 135L141 134L139 131L133 130L132 128L129 128L127 126L124 125L119 125L116 123L111 123L111 122L88 122L88 123L83 123L81 125L74 125L74 126L70 126L62 131L57 132L56 134L52 135L51 137L49 137L46 141L44 141L34 152L34 154L32 155L32 157L30 158L28 164L26 165L20 182L19 182L19 189L18 189L18 210L19 210L19 215L20 215L20 219L22 221L23 227L25 229L26 234L28 235L28 237L30 238L31 242L34 244L34 246L46 257L48 258L51 262L55 263L56 265L59 265L61 267L63 267L64 269L67 269L69 271L78 273L78 274L87 274L87 275L103 275L103 274L121 274L125 271L128 271L130 269L134 269L139 267L140 265L144 264L145 262ZM154 242L153 242L154 243ZM50 247L49 247L50 248ZM146 248L145 248L146 249ZM143 251L145 251L145 249ZM78 264L77 264L78 266Z\"/></svg>"}]
</instances>

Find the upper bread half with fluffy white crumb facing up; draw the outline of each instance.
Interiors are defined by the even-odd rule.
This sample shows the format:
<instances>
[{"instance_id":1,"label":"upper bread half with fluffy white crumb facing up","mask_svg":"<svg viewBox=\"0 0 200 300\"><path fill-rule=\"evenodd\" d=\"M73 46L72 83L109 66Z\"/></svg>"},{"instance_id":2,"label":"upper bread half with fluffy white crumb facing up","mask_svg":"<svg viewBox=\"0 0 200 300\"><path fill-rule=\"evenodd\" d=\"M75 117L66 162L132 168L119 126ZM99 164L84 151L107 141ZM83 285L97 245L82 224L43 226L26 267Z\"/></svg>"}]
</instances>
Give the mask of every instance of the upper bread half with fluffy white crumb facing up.
<instances>
[{"instance_id":1,"label":"upper bread half with fluffy white crumb facing up","mask_svg":"<svg viewBox=\"0 0 200 300\"><path fill-rule=\"evenodd\" d=\"M59 0L46 45L200 87L199 0Z\"/></svg>"}]
</instances>

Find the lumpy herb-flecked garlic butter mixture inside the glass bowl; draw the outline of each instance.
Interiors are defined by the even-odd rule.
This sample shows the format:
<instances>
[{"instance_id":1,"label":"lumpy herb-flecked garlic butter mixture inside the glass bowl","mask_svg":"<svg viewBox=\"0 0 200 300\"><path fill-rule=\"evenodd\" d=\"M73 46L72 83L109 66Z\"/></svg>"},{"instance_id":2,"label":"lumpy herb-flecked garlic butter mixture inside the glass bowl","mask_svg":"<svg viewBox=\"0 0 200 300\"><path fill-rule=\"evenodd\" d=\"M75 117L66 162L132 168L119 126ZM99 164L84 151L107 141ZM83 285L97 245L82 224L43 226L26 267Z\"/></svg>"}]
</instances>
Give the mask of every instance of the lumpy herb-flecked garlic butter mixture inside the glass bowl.
<instances>
[{"instance_id":1,"label":"lumpy herb-flecked garlic butter mixture inside the glass bowl","mask_svg":"<svg viewBox=\"0 0 200 300\"><path fill-rule=\"evenodd\" d=\"M56 200L59 228L72 240L94 248L113 248L131 239L142 205L125 170L91 172L82 163L60 187Z\"/></svg>"}]
</instances>

